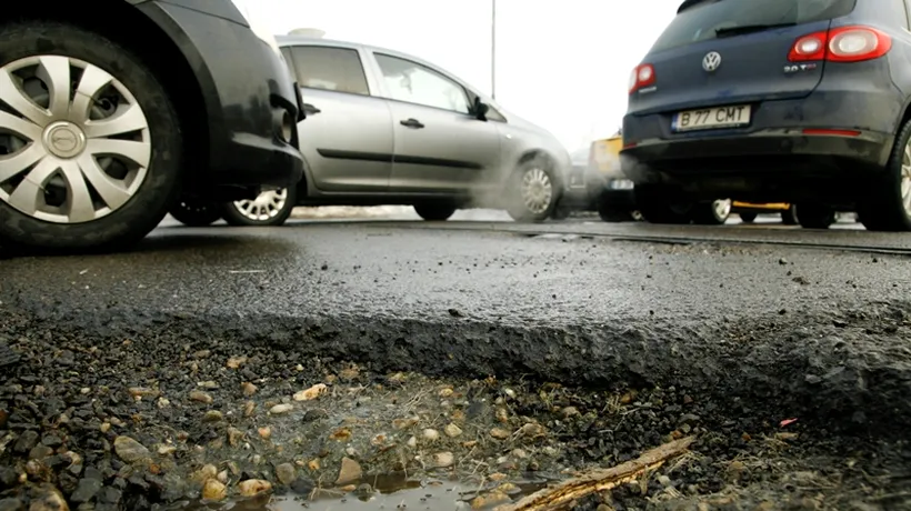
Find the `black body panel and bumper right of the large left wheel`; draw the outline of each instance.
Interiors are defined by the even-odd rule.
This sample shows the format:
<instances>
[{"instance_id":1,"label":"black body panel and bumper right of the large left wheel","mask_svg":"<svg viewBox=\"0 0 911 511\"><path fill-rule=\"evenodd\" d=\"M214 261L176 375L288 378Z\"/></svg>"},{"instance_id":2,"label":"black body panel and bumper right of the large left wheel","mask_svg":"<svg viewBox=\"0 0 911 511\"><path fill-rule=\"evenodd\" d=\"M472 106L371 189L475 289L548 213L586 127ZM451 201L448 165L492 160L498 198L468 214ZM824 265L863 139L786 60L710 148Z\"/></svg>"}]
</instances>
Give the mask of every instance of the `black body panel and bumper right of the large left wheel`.
<instances>
[{"instance_id":1,"label":"black body panel and bumper right of the large left wheel","mask_svg":"<svg viewBox=\"0 0 911 511\"><path fill-rule=\"evenodd\" d=\"M191 186L288 187L303 176L294 147L299 94L288 67L248 27L168 2L138 6L183 52L202 91L204 171ZM282 137L291 120L292 140Z\"/></svg>"}]
</instances>

